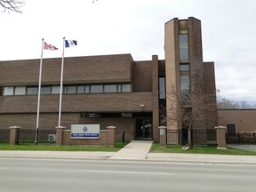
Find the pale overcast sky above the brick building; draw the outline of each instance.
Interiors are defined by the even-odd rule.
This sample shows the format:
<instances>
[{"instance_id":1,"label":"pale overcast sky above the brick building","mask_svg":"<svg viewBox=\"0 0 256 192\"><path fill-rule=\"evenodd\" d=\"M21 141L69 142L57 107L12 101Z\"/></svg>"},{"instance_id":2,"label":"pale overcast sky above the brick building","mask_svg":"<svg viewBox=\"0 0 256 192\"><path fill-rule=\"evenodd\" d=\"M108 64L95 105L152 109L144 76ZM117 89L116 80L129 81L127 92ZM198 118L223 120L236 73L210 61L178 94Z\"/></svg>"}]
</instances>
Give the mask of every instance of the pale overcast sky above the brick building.
<instances>
[{"instance_id":1,"label":"pale overcast sky above the brick building","mask_svg":"<svg viewBox=\"0 0 256 192\"><path fill-rule=\"evenodd\" d=\"M255 0L25 0L22 14L0 12L0 60L41 57L42 37L65 57L131 53L164 60L164 23L202 21L204 61L215 62L216 86L228 100L256 103Z\"/></svg>"}]
</instances>

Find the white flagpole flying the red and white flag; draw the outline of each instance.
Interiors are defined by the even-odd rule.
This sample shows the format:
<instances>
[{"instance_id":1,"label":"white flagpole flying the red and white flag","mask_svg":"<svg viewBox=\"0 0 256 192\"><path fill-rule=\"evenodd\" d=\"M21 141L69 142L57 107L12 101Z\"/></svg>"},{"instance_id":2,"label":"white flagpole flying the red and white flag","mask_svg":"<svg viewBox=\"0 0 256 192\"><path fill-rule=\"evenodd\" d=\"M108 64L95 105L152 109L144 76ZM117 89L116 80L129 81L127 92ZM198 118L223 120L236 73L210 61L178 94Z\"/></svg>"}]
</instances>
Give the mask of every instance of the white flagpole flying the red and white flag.
<instances>
[{"instance_id":1,"label":"white flagpole flying the red and white flag","mask_svg":"<svg viewBox=\"0 0 256 192\"><path fill-rule=\"evenodd\" d=\"M44 38L42 38L42 52L39 67L39 83L38 83L38 97L37 97L37 112L36 112L36 140L38 143L38 131L39 131L39 111L40 111L40 97L41 97L41 82L42 82L42 66L43 66L43 50L44 50Z\"/></svg>"}]
</instances>

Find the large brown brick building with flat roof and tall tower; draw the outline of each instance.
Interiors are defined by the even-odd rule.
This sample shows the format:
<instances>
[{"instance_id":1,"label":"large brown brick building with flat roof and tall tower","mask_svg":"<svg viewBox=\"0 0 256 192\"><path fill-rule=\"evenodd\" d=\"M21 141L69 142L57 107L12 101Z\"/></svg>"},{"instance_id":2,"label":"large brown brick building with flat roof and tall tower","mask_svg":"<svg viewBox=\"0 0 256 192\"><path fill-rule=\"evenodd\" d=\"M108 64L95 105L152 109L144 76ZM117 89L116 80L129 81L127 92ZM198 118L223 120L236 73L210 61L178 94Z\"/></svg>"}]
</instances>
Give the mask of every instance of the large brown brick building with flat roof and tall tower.
<instances>
[{"instance_id":1,"label":"large brown brick building with flat roof and tall tower","mask_svg":"<svg viewBox=\"0 0 256 192\"><path fill-rule=\"evenodd\" d=\"M165 23L165 60L136 61L131 54L65 58L61 125L116 126L116 140L159 140L158 126L180 130L173 124L177 100L184 92L201 96L216 106L214 63L203 61L201 21L195 18ZM0 129L13 125L36 129L40 60L0 61ZM58 125L61 58L44 59L39 129ZM170 99L171 97L171 99ZM197 97L197 95L196 95ZM196 107L197 106L197 107ZM159 111L165 110L165 116ZM191 97L186 106L199 110ZM196 129L213 129L217 111L204 109L194 121Z\"/></svg>"}]
</instances>

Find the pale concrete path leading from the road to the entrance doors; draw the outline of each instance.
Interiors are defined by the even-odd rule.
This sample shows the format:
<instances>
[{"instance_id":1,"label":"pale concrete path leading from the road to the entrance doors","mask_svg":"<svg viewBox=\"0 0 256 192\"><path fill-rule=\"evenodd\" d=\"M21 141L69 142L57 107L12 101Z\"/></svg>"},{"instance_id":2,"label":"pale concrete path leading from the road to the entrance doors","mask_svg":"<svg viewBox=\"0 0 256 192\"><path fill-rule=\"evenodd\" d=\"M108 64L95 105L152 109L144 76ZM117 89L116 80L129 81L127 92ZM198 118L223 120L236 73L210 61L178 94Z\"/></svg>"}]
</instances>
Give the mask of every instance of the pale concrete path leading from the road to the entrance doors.
<instances>
[{"instance_id":1,"label":"pale concrete path leading from the road to the entrance doors","mask_svg":"<svg viewBox=\"0 0 256 192\"><path fill-rule=\"evenodd\" d=\"M124 148L120 149L114 156L111 156L109 159L146 159L152 143L152 140L132 140L129 144L127 144Z\"/></svg>"}]
</instances>

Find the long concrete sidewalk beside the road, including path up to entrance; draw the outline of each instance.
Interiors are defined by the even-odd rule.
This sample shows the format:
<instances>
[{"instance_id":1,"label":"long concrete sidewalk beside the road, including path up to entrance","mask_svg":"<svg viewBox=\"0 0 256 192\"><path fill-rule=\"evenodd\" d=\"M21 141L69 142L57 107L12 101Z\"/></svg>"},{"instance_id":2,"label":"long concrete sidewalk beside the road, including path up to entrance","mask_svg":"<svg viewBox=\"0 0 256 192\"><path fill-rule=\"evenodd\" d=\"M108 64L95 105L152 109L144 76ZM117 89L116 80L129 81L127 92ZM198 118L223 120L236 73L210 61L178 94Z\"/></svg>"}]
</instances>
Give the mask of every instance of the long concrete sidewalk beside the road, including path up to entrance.
<instances>
[{"instance_id":1,"label":"long concrete sidewalk beside the road, including path up to entrance","mask_svg":"<svg viewBox=\"0 0 256 192\"><path fill-rule=\"evenodd\" d=\"M136 160L170 163L256 164L256 156L148 153L152 141L134 140L118 152L0 150L0 158L52 158L77 160Z\"/></svg>"}]
</instances>

